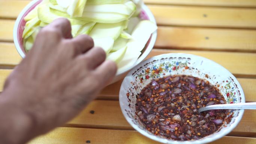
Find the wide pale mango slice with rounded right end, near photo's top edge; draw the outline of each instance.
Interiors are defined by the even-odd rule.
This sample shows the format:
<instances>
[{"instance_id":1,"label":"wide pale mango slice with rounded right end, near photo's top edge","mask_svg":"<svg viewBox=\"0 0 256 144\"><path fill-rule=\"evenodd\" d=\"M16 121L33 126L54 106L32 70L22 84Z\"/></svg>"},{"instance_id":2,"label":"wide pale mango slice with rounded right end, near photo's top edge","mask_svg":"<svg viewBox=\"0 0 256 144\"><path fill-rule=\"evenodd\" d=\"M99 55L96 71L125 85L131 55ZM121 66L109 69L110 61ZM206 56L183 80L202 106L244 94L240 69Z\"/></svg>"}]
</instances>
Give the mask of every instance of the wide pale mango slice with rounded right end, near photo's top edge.
<instances>
[{"instance_id":1,"label":"wide pale mango slice with rounded right end, near photo's top edge","mask_svg":"<svg viewBox=\"0 0 256 144\"><path fill-rule=\"evenodd\" d=\"M136 5L132 1L128 1L124 4L86 5L83 12L107 12L132 15L132 13L135 12L135 9Z\"/></svg>"}]
</instances>

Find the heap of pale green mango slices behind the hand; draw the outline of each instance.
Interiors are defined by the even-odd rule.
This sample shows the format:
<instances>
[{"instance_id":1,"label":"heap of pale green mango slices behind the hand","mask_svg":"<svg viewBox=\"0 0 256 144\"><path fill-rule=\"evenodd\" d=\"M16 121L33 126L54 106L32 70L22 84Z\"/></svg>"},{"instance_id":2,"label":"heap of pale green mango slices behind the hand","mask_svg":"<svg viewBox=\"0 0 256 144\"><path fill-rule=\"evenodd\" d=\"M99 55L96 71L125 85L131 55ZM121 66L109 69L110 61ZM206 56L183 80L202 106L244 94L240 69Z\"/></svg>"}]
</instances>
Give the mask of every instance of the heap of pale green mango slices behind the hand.
<instances>
[{"instance_id":1,"label":"heap of pale green mango slices behind the hand","mask_svg":"<svg viewBox=\"0 0 256 144\"><path fill-rule=\"evenodd\" d=\"M142 0L43 0L24 20L24 47L29 51L42 27L57 18L67 18L71 34L88 34L103 48L118 71L131 67L157 26L141 20Z\"/></svg>"}]
</instances>

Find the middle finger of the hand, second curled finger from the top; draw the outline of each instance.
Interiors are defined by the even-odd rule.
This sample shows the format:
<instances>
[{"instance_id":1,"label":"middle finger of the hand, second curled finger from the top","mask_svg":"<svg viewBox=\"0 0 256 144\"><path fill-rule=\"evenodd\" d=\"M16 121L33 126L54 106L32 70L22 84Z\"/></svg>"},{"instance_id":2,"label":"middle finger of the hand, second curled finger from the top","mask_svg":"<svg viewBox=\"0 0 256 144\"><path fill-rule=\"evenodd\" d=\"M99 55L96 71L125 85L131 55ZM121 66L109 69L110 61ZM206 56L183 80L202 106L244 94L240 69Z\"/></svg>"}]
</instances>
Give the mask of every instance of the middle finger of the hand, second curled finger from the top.
<instances>
[{"instance_id":1,"label":"middle finger of the hand, second curled finger from the top","mask_svg":"<svg viewBox=\"0 0 256 144\"><path fill-rule=\"evenodd\" d=\"M92 38L88 35L79 35L71 40L75 46L76 54L82 54L87 52L94 46Z\"/></svg>"}]
</instances>

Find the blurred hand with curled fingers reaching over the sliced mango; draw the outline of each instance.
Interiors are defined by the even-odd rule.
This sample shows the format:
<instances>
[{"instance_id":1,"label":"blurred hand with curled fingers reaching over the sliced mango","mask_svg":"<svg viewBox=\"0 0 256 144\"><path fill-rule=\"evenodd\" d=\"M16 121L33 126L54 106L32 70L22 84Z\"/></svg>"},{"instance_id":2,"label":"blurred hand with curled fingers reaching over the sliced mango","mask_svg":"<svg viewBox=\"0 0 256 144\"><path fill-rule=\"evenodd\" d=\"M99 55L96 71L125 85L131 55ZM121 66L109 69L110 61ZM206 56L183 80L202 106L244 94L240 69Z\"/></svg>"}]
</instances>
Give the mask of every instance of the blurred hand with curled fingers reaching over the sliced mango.
<instances>
[{"instance_id":1,"label":"blurred hand with curled fingers reaching over the sliced mango","mask_svg":"<svg viewBox=\"0 0 256 144\"><path fill-rule=\"evenodd\" d=\"M42 28L33 48L8 77L1 101L18 107L33 122L34 135L63 125L92 101L116 74L91 37L71 39L60 18Z\"/></svg>"}]
</instances>

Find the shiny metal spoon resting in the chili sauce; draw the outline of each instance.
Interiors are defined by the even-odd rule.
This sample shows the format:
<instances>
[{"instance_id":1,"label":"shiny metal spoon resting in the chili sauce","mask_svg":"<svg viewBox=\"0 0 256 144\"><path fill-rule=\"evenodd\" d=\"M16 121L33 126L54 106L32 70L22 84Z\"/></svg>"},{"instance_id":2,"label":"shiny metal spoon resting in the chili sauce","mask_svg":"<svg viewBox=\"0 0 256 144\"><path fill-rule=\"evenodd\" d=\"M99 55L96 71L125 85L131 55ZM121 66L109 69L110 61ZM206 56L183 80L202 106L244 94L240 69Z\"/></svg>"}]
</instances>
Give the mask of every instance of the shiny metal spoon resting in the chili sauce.
<instances>
[{"instance_id":1,"label":"shiny metal spoon resting in the chili sauce","mask_svg":"<svg viewBox=\"0 0 256 144\"><path fill-rule=\"evenodd\" d=\"M247 103L238 103L238 104L216 104L209 105L206 107L201 107L198 109L198 112L206 110L218 110L218 109L248 109L248 110L256 110L256 102L247 102Z\"/></svg>"}]
</instances>

